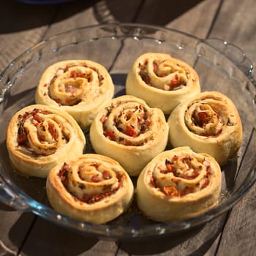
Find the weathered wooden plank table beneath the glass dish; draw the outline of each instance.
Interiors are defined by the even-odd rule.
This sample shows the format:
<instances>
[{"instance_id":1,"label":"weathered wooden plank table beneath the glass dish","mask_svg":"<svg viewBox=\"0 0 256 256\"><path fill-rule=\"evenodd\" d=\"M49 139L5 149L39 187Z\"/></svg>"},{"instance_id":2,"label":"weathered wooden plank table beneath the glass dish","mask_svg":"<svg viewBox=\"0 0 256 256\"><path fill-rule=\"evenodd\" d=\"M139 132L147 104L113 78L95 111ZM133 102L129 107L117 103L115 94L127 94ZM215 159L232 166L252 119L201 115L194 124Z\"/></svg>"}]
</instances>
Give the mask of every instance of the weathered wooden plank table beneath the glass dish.
<instances>
[{"instance_id":1,"label":"weathered wooden plank table beneath the glass dish","mask_svg":"<svg viewBox=\"0 0 256 256\"><path fill-rule=\"evenodd\" d=\"M254 0L81 0L0 9L0 70L35 43L97 23L148 23L200 38L233 42L256 64ZM144 241L104 241L78 235L0 204L0 255L255 255L256 184L232 211L192 232Z\"/></svg>"}]
</instances>

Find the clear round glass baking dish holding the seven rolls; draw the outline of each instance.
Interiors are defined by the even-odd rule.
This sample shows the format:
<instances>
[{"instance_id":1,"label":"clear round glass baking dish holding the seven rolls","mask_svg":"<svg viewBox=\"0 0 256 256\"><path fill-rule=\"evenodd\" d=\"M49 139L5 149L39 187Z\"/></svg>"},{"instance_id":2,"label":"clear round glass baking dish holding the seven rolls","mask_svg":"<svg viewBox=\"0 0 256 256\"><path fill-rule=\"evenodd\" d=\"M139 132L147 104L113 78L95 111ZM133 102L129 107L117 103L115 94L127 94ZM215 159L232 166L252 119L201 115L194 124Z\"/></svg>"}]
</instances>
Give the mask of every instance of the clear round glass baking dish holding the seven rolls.
<instances>
[{"instance_id":1,"label":"clear round glass baking dish holding the seven rolls","mask_svg":"<svg viewBox=\"0 0 256 256\"><path fill-rule=\"evenodd\" d=\"M127 72L142 53L170 53L194 67L202 91L217 90L233 100L244 127L242 146L235 159L222 166L219 205L199 217L182 222L159 223L138 211L136 202L106 225L78 222L50 207L45 179L26 178L13 171L5 135L12 115L34 103L42 72L56 61L91 59L105 66L124 94ZM242 50L220 39L198 39L172 29L140 24L108 24L67 31L39 42L12 61L0 75L0 200L17 210L29 211L63 227L100 238L141 238L189 230L223 214L234 206L256 181L256 106L252 64ZM93 149L88 131L86 153ZM135 181L135 180L134 180Z\"/></svg>"}]
</instances>

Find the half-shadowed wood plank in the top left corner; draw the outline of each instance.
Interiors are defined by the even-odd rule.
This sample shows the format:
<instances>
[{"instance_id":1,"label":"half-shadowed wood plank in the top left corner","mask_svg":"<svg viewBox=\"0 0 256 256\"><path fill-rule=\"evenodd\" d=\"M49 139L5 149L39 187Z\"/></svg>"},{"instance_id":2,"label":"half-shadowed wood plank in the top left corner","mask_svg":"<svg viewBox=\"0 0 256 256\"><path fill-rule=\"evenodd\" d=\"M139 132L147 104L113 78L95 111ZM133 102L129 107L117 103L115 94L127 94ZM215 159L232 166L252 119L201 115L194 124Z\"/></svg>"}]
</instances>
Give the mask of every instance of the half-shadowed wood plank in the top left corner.
<instances>
[{"instance_id":1,"label":"half-shadowed wood plank in the top left corner","mask_svg":"<svg viewBox=\"0 0 256 256\"><path fill-rule=\"evenodd\" d=\"M23 53L27 48L39 42L48 23L56 14L57 6L34 6L7 1L0 9L0 70Z\"/></svg>"}]
</instances>

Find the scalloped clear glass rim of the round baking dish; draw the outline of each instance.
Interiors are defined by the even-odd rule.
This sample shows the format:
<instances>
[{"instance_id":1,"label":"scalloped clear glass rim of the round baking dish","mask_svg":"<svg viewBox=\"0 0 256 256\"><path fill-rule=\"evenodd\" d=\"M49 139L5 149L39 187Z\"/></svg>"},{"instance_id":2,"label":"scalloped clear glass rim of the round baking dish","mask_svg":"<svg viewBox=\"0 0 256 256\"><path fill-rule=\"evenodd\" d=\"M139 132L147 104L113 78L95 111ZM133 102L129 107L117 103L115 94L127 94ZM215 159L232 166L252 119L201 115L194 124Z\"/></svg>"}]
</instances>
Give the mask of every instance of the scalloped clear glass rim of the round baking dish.
<instances>
[{"instance_id":1,"label":"scalloped clear glass rim of the round baking dish","mask_svg":"<svg viewBox=\"0 0 256 256\"><path fill-rule=\"evenodd\" d=\"M0 83L5 73L8 72L8 70L11 69L20 59L23 59L23 56L26 56L26 54L31 53L31 51L37 50L38 48L42 47L48 42L53 41L56 38L63 36L64 34L69 34L72 31L79 31L83 29L96 29L96 28L104 29L104 28L111 28L111 27L112 28L131 27L131 28L154 29L155 31L164 31L166 33L173 31L178 34L183 34L186 37L197 39L198 42L203 42L209 47L213 48L213 46L208 43L207 39L200 39L198 37L195 37L192 34L187 34L184 31L179 31L177 29L170 29L170 28L161 27L161 26L152 26L152 25L141 24L141 23L108 23L108 24L96 24L91 26L82 26L76 29L70 29L68 31L61 32L59 34L55 34L52 37L48 37L48 39L42 40L41 42L38 42L37 44L33 45L31 48L28 48L27 50L25 50L23 53L17 56L13 61L11 61L10 64L8 64L7 67L2 72L0 72ZM223 42L224 44L227 44L227 42L223 41L222 39L218 39L218 40L219 42ZM236 47L238 50L240 50L241 53L243 53L241 48L238 48L236 45L233 45L233 46ZM214 49L214 50L217 50L219 54L223 55L223 53L218 49ZM225 57L228 57L228 56L225 56ZM249 63L251 62L249 61ZM245 75L248 76L249 80L251 80L253 84L255 84L255 81L252 78L252 69L253 69L253 66L251 64L251 66L248 68L248 73L246 73ZM0 103L2 101L1 95L3 95L4 97L5 89L7 88L1 89ZM212 219L219 217L219 215L223 214L225 211L229 210L234 205L236 205L236 203L238 203L238 201L241 200L242 197L244 197L246 192L248 192L248 190L253 186L253 184L255 184L256 168L253 168L251 173L253 173L253 176L248 183L244 184L243 187L240 187L235 192L235 194L232 195L232 197L227 198L227 200L225 200L224 203L211 209L206 214L200 215L199 217L186 219L181 222L170 222L170 223L159 222L154 225L150 225L147 227L140 227L140 228L120 227L118 225L110 226L108 224L95 225L88 222L80 222L74 219L70 219L64 214L59 214L56 211L54 211L52 208L45 206L42 203L39 203L36 200L32 199L29 195L26 195L26 193L20 190L16 186L16 184L12 184L12 182L7 178L7 176L5 176L1 172L0 172L0 190L3 190L6 193L6 195L4 196L4 199L9 200L7 205L12 206L18 210L21 209L23 211L33 212L39 217L47 219L50 222L71 228L72 230L77 230L78 232L81 232L81 233L96 235L102 238L105 238L105 237L109 237L109 238L143 237L145 238L148 236L164 235L164 234L170 234L170 233L176 233L179 231L189 230L192 227L197 227L198 225L209 222ZM0 201L1 201L1 197L0 197Z\"/></svg>"}]
</instances>

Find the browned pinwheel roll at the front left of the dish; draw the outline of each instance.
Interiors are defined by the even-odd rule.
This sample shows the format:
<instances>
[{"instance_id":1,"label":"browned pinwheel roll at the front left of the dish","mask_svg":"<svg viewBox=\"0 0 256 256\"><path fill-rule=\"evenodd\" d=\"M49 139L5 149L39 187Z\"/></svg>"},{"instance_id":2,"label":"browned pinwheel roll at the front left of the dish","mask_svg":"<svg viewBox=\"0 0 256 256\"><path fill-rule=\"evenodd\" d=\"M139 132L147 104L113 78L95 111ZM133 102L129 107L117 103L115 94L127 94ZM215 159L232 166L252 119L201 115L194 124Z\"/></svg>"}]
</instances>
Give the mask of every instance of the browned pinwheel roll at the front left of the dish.
<instances>
[{"instance_id":1,"label":"browned pinwheel roll at the front left of the dish","mask_svg":"<svg viewBox=\"0 0 256 256\"><path fill-rule=\"evenodd\" d=\"M101 224L132 202L134 188L121 165L99 154L83 154L50 170L46 191L51 206L68 217Z\"/></svg>"}]
</instances>

